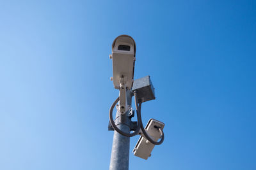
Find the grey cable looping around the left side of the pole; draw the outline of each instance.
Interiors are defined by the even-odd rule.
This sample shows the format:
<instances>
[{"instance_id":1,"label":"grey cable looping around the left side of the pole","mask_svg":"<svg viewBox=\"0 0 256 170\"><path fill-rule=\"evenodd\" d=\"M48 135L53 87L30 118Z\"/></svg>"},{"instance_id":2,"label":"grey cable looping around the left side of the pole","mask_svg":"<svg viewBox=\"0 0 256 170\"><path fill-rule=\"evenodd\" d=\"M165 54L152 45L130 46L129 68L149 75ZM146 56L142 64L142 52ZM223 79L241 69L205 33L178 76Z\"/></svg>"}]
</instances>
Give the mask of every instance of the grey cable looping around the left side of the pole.
<instances>
[{"instance_id":1,"label":"grey cable looping around the left side of the pole","mask_svg":"<svg viewBox=\"0 0 256 170\"><path fill-rule=\"evenodd\" d=\"M112 125L112 127L115 129L116 132L118 132L118 133L120 133L120 134L122 134L124 136L132 137L132 136L137 135L140 132L140 125L141 125L141 118L139 118L138 111L137 111L137 117L138 117L137 128L136 128L136 131L134 131L132 134L125 133L125 132L121 131L120 129L118 129L118 127L116 126L115 121L113 120L113 109L115 108L115 105L116 105L116 103L118 103L118 101L119 101L119 97L117 97L117 99L111 105L111 108L109 110L109 121L110 121L110 124Z\"/></svg>"}]
</instances>

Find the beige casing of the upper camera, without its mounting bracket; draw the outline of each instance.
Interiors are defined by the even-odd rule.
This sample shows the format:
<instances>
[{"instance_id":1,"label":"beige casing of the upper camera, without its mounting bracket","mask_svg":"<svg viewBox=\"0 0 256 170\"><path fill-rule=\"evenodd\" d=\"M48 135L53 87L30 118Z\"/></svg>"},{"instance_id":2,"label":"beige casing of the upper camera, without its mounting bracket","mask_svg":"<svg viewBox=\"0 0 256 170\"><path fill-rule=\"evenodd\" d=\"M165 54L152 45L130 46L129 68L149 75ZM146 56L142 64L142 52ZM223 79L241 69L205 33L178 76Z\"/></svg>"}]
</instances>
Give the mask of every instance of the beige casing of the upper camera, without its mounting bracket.
<instances>
[{"instance_id":1,"label":"beige casing of the upper camera, without its mounting bracket","mask_svg":"<svg viewBox=\"0 0 256 170\"><path fill-rule=\"evenodd\" d=\"M129 46L129 50L118 50L118 46ZM120 83L123 83L127 89L132 88L134 76L136 44L131 36L118 36L112 44L113 60L113 84L115 89L119 89ZM123 77L123 82L120 78Z\"/></svg>"}]
</instances>

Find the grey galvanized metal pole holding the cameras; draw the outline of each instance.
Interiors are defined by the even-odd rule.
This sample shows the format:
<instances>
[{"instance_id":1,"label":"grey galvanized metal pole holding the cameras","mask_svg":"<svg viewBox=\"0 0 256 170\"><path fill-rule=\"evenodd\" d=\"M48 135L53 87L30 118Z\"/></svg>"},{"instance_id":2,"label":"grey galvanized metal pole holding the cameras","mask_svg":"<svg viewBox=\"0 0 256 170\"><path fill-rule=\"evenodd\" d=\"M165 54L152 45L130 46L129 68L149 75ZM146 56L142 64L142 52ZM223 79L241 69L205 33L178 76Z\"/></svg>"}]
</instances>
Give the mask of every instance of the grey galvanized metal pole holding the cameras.
<instances>
[{"instance_id":1,"label":"grey galvanized metal pole holding the cameras","mask_svg":"<svg viewBox=\"0 0 256 170\"><path fill-rule=\"evenodd\" d=\"M131 106L132 94L130 90L126 91L127 104ZM121 117L125 117L125 122L121 122ZM125 115L121 115L119 111L116 111L116 126L123 132L129 133L131 128L131 118L129 118L129 111ZM128 170L129 169L129 150L130 150L130 138L122 136L118 132L114 131L113 145L111 152L111 160L109 170Z\"/></svg>"}]
</instances>

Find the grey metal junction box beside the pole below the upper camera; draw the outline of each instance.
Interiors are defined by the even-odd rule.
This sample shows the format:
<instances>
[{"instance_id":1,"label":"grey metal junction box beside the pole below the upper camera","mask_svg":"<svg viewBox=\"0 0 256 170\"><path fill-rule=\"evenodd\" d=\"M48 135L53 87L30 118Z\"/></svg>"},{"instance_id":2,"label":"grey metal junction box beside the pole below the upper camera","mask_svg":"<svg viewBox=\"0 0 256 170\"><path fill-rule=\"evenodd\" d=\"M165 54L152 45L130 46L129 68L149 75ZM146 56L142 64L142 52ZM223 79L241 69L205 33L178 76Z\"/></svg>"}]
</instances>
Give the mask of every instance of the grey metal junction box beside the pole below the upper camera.
<instances>
[{"instance_id":1,"label":"grey metal junction box beside the pole below the upper camera","mask_svg":"<svg viewBox=\"0 0 256 170\"><path fill-rule=\"evenodd\" d=\"M141 101L141 103L156 99L155 89L150 80L150 76L145 76L143 78L134 80L134 83L132 86L132 92L134 91L137 92L138 101Z\"/></svg>"}]
</instances>

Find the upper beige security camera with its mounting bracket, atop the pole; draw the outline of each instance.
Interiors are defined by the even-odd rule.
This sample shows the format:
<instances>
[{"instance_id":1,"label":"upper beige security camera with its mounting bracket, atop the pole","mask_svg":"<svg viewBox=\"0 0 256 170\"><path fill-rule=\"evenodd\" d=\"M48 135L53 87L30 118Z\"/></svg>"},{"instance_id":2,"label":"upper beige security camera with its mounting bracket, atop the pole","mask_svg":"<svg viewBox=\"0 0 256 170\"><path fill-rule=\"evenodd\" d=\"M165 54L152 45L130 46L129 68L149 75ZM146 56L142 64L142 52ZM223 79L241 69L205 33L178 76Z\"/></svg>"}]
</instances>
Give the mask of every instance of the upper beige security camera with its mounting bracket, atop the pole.
<instances>
[{"instance_id":1,"label":"upper beige security camera with its mounting bracket, atop the pole","mask_svg":"<svg viewBox=\"0 0 256 170\"><path fill-rule=\"evenodd\" d=\"M118 110L124 114L129 108L126 101L126 90L132 88L134 78L136 44L131 36L118 36L112 44L113 84L120 90Z\"/></svg>"}]
</instances>

